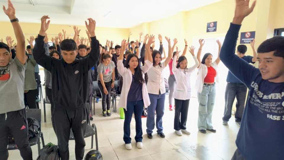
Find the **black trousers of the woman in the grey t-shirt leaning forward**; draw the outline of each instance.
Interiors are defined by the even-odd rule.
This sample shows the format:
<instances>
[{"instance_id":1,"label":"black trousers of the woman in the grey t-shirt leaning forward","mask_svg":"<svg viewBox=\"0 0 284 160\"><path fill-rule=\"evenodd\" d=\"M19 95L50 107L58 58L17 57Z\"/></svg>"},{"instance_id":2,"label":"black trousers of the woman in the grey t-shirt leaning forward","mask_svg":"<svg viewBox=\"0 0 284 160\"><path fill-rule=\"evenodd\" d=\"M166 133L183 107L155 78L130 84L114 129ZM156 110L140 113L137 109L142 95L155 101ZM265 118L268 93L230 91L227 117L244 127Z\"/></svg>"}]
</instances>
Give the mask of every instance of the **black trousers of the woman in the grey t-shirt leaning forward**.
<instances>
[{"instance_id":1,"label":"black trousers of the woman in the grey t-shirt leaning forward","mask_svg":"<svg viewBox=\"0 0 284 160\"><path fill-rule=\"evenodd\" d=\"M101 105L102 105L103 111L109 110L110 101L111 101L110 91L112 90L112 81L104 83L104 85L106 86L107 92L109 92L109 94L107 95L104 94L104 88L101 85L101 81L98 81L98 85L101 91Z\"/></svg>"}]
</instances>

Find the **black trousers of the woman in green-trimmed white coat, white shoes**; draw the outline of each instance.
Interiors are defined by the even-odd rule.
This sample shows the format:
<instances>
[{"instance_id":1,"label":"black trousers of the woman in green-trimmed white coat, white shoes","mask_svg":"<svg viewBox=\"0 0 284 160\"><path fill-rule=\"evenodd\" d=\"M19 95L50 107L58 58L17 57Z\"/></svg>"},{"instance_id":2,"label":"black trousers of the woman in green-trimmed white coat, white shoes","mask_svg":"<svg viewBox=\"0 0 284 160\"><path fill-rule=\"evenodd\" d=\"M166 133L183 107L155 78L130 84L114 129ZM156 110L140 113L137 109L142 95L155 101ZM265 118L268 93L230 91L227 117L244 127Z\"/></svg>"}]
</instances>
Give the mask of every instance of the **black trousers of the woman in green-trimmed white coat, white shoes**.
<instances>
[{"instance_id":1,"label":"black trousers of the woman in green-trimmed white coat, white shoes","mask_svg":"<svg viewBox=\"0 0 284 160\"><path fill-rule=\"evenodd\" d=\"M174 129L186 129L189 100L175 99L175 120Z\"/></svg>"}]
</instances>

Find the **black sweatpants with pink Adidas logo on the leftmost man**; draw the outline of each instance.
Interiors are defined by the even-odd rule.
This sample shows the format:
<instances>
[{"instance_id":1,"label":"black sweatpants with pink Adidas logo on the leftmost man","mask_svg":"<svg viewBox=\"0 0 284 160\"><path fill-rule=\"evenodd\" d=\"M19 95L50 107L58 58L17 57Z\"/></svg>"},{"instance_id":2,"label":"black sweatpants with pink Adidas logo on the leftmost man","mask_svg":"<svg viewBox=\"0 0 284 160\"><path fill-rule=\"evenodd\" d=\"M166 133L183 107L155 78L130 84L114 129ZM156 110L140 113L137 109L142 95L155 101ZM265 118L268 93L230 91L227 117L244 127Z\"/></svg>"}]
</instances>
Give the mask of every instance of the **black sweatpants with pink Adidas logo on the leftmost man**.
<instances>
[{"instance_id":1,"label":"black sweatpants with pink Adidas logo on the leftmost man","mask_svg":"<svg viewBox=\"0 0 284 160\"><path fill-rule=\"evenodd\" d=\"M32 160L32 149L28 141L28 125L25 109L0 114L0 159L7 160L8 135L11 131L24 160Z\"/></svg>"}]
</instances>

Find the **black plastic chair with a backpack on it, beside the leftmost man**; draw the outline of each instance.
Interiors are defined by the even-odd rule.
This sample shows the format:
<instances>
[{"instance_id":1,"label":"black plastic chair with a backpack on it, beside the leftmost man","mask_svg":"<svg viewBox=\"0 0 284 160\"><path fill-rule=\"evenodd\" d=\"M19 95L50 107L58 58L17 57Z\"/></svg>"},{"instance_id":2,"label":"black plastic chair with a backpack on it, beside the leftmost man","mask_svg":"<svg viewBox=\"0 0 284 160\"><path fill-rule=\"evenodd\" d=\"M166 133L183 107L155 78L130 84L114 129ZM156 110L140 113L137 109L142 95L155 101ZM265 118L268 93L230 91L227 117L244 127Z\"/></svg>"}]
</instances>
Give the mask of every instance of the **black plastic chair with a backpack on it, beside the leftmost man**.
<instances>
[{"instance_id":1,"label":"black plastic chair with a backpack on it, beside the leftmost man","mask_svg":"<svg viewBox=\"0 0 284 160\"><path fill-rule=\"evenodd\" d=\"M29 139L30 146L38 144L38 154L41 151L41 145L40 143L42 142L42 147L44 147L44 140L43 140L43 133L41 132L41 109L25 109L26 113L26 118L34 118L38 120L39 125L40 125L40 130L38 134L35 137L32 137ZM41 138L41 142L40 142ZM18 149L16 143L9 142L8 144L8 150L15 150Z\"/></svg>"}]
</instances>

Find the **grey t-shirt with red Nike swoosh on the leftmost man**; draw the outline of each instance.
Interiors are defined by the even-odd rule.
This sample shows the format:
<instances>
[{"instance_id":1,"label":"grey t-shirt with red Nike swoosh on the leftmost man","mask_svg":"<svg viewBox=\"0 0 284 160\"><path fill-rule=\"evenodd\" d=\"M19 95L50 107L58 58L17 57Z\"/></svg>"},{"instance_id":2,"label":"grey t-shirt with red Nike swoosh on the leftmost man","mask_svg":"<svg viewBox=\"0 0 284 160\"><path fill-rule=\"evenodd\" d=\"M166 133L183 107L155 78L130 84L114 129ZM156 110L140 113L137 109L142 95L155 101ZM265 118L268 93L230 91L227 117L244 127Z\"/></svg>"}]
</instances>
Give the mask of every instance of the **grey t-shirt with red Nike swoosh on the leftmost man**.
<instances>
[{"instance_id":1,"label":"grey t-shirt with red Nike swoosh on the leftmost man","mask_svg":"<svg viewBox=\"0 0 284 160\"><path fill-rule=\"evenodd\" d=\"M0 67L0 114L25 108L25 68L17 57L7 66Z\"/></svg>"}]
</instances>

